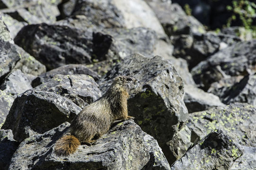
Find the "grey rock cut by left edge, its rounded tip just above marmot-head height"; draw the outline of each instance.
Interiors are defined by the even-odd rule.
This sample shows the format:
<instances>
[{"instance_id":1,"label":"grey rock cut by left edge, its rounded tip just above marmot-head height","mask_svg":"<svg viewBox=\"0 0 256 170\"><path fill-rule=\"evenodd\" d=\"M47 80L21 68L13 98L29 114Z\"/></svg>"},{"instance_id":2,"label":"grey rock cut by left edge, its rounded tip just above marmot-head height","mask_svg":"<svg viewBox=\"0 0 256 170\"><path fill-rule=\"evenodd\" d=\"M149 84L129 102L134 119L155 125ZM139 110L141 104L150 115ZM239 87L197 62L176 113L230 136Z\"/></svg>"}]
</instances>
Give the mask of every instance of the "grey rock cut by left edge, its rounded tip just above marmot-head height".
<instances>
[{"instance_id":1,"label":"grey rock cut by left edge, its rounded tip just above marmot-head height","mask_svg":"<svg viewBox=\"0 0 256 170\"><path fill-rule=\"evenodd\" d=\"M0 81L11 72L19 59L19 53L13 44L0 40Z\"/></svg>"}]
</instances>

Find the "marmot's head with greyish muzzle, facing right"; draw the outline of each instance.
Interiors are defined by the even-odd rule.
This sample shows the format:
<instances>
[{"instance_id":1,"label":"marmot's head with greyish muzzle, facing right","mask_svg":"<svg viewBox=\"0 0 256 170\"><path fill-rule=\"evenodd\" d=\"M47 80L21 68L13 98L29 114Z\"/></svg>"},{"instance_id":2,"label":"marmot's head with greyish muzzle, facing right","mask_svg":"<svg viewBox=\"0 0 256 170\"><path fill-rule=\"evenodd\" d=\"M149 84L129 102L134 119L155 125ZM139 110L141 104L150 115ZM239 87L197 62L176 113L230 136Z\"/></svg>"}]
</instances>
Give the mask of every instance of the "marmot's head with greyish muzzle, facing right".
<instances>
[{"instance_id":1,"label":"marmot's head with greyish muzzle, facing right","mask_svg":"<svg viewBox=\"0 0 256 170\"><path fill-rule=\"evenodd\" d=\"M120 88L120 90L125 90L127 92L136 89L139 85L140 81L130 76L117 76L113 81L113 86L115 86L115 88Z\"/></svg>"}]
</instances>

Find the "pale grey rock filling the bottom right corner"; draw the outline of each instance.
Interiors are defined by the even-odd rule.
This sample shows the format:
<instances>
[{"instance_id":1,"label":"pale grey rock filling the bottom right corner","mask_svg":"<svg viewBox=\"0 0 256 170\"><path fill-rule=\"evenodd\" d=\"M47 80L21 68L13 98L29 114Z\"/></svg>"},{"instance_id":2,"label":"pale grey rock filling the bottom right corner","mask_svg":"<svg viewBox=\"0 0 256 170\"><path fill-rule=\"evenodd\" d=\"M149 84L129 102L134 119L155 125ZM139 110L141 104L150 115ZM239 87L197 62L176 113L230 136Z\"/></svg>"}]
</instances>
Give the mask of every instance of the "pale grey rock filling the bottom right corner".
<instances>
[{"instance_id":1,"label":"pale grey rock filling the bottom right corner","mask_svg":"<svg viewBox=\"0 0 256 170\"><path fill-rule=\"evenodd\" d=\"M256 147L239 146L243 155L239 157L230 170L254 170L256 169Z\"/></svg>"}]
</instances>

